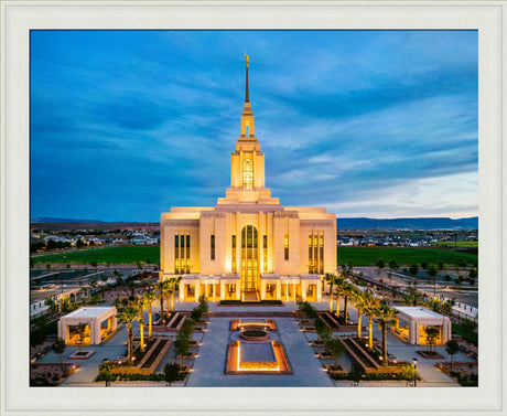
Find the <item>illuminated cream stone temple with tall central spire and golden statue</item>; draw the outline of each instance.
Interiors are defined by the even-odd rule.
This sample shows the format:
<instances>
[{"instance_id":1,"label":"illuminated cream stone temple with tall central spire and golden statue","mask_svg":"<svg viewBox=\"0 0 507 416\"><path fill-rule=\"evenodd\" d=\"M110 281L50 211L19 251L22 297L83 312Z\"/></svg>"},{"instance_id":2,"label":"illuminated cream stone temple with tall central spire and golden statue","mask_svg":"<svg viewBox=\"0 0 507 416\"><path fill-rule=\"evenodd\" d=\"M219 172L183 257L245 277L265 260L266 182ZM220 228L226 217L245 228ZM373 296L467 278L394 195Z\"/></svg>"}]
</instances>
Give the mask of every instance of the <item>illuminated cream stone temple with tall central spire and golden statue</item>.
<instances>
[{"instance_id":1,"label":"illuminated cream stone temple with tall central spire and golden statue","mask_svg":"<svg viewBox=\"0 0 507 416\"><path fill-rule=\"evenodd\" d=\"M230 188L215 206L172 207L160 220L160 280L181 276L180 300L321 301L336 271L336 216L324 207L285 207L265 184L246 56L240 136Z\"/></svg>"}]
</instances>

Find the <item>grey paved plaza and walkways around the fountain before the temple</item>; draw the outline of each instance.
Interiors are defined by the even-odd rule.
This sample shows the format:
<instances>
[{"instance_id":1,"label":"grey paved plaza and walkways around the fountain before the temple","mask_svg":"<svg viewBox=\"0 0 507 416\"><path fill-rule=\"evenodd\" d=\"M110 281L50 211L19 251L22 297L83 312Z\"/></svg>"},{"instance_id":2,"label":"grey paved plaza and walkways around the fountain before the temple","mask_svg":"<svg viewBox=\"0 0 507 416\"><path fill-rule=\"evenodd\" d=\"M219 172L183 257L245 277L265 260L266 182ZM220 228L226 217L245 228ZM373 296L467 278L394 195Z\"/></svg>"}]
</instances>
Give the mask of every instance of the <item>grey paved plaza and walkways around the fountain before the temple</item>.
<instances>
[{"instance_id":1,"label":"grey paved plaza and walkways around the fountain before the temple","mask_svg":"<svg viewBox=\"0 0 507 416\"><path fill-rule=\"evenodd\" d=\"M176 302L176 310L190 311L197 303ZM325 305L325 308L324 308ZM327 309L327 302L313 303L319 309ZM316 334L312 332L302 332L296 320L292 317L280 317L276 312L291 312L296 309L294 302L287 302L284 306L270 306L270 307L220 307L216 303L209 303L209 311L219 316L208 319L206 332L194 333L194 340L201 340L202 345L198 350L198 355L194 360L193 371L190 373L186 383L175 383L174 386L188 386L188 387L233 387L233 386L337 386L348 387L349 382L334 382L323 369L323 364L331 364L333 360L327 360L324 363L315 356L315 351L310 345L311 340L316 339ZM155 308L157 310L157 308ZM354 321L357 320L357 311L349 307L349 318ZM224 317L224 312L227 317ZM234 319L241 319L245 312L252 312L258 318L272 319L276 322L277 330L269 331L270 339L280 342L285 351L287 359L292 369L292 374L225 374L227 350L229 342L238 339L237 331L230 331L230 321ZM145 321L148 321L148 312L145 312ZM368 318L363 317L363 326L368 328ZM378 324L374 322L374 337L380 339L381 333ZM147 332L144 332L147 334ZM343 335L344 333L335 333L335 335ZM346 334L346 333L345 333ZM349 333L355 334L355 333ZM366 333L364 333L366 334ZM139 335L139 327L134 323L134 337ZM165 333L168 335L168 333ZM175 333L169 337L175 339ZM387 335L388 351L398 358L399 361L411 362L413 358L419 360L418 373L422 381L418 382L418 387L456 387L459 384L446 374L441 372L434 366L435 360L427 360L420 356L417 351L424 350L421 345L411 345L392 333L388 332ZM78 387L78 386L104 386L104 383L95 383L94 380L98 374L98 366L104 359L116 360L127 352L127 330L125 326L119 327L117 333L111 337L107 342L98 345L86 345L87 351L95 351L95 354L88 360L68 360L68 355L78 351L77 346L67 346L65 350L65 361L79 363L80 367L65 380L62 386ZM446 353L444 346L436 346L436 351L444 356L440 361L450 361L450 355ZM454 356L455 361L473 362L474 360L463 352L459 352ZM160 364L157 366L155 372L161 373L165 363L176 361L173 346L163 356ZM58 356L53 352L37 360L37 363L57 363ZM344 353L338 363L345 369L349 370L353 363L350 356ZM116 382L112 386L165 386L165 383L157 382ZM359 386L407 386L407 382L362 382Z\"/></svg>"}]
</instances>

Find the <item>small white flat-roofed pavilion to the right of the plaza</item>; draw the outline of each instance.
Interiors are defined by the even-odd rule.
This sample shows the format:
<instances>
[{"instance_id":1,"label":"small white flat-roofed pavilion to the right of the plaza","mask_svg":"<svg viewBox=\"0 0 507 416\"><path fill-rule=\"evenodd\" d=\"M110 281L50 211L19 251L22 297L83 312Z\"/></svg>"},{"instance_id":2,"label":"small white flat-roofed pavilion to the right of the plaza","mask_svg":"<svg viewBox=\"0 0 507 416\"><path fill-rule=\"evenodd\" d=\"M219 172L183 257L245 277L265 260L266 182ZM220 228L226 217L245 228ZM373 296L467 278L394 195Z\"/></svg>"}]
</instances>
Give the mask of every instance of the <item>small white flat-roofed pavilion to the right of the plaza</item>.
<instances>
[{"instance_id":1,"label":"small white flat-roofed pavilion to the right of the plaza","mask_svg":"<svg viewBox=\"0 0 507 416\"><path fill-rule=\"evenodd\" d=\"M407 322L408 340L411 344L424 343L424 328L427 327L440 328L440 334L436 339L439 345L445 344L452 338L452 326L449 317L421 307L395 306L393 309L399 311L397 328L400 320Z\"/></svg>"}]
</instances>

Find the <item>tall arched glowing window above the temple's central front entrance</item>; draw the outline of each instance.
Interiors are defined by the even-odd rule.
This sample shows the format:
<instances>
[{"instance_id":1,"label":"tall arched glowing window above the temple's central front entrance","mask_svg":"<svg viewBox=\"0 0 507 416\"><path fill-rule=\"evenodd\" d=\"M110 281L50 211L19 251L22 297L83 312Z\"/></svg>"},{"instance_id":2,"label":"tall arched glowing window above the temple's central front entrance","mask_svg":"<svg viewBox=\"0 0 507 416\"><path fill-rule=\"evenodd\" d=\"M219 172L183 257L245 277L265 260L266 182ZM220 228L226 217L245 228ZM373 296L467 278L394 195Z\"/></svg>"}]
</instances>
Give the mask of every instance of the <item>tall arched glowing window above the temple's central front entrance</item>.
<instances>
[{"instance_id":1,"label":"tall arched glowing window above the temple's central front entrance","mask_svg":"<svg viewBox=\"0 0 507 416\"><path fill-rule=\"evenodd\" d=\"M257 292L259 287L258 267L259 238L254 225L241 230L241 291Z\"/></svg>"}]
</instances>

